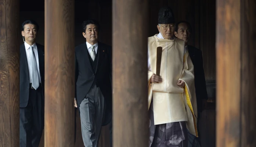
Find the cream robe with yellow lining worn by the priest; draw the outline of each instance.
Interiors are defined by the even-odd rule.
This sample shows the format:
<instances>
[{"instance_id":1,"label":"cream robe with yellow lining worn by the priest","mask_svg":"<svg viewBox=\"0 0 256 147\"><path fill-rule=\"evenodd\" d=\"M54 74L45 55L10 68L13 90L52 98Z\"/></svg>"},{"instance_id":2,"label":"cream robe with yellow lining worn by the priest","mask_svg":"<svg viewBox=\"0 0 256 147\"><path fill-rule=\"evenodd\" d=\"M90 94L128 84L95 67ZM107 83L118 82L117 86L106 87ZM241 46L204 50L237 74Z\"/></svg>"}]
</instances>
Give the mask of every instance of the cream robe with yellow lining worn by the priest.
<instances>
[{"instance_id":1,"label":"cream robe with yellow lining worn by the priest","mask_svg":"<svg viewBox=\"0 0 256 147\"><path fill-rule=\"evenodd\" d=\"M156 73L158 46L162 47L162 82L151 83L150 78ZM186 121L189 132L198 136L194 66L188 52L184 51L184 41L178 38L163 39L161 33L149 37L148 61L148 109L153 98L155 125ZM177 86L178 80L184 81L186 86Z\"/></svg>"}]
</instances>

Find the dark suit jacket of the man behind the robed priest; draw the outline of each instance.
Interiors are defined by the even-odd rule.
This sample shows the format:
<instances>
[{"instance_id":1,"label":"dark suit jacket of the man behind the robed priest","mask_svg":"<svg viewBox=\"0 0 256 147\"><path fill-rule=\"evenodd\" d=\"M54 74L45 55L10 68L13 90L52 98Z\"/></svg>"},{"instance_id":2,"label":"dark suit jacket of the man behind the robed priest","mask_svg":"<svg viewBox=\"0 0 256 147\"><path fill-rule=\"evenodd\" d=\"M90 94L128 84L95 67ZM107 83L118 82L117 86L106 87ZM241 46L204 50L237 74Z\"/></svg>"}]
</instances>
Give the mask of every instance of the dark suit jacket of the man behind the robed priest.
<instances>
[{"instance_id":1,"label":"dark suit jacket of the man behind the robed priest","mask_svg":"<svg viewBox=\"0 0 256 147\"><path fill-rule=\"evenodd\" d=\"M206 83L203 69L203 56L200 49L194 46L188 46L189 56L194 65L195 75L195 94L197 96L197 109L202 112L202 99L207 99Z\"/></svg>"}]
</instances>

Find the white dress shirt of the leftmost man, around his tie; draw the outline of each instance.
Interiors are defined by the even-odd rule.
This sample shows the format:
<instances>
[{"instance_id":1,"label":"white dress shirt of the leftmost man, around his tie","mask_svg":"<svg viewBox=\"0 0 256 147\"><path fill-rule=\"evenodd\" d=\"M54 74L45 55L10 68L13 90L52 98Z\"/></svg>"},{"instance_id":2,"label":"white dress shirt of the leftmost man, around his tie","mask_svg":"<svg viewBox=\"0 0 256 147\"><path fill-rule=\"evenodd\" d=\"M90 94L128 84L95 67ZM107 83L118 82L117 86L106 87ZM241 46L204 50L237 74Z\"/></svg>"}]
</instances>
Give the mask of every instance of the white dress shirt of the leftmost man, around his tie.
<instances>
[{"instance_id":1,"label":"white dress shirt of the leftmost man, around his tie","mask_svg":"<svg viewBox=\"0 0 256 147\"><path fill-rule=\"evenodd\" d=\"M26 55L27 55L27 62L28 62L28 73L29 73L29 82L32 83L32 67L30 64L30 51L32 51L30 49L30 45L28 43L24 43L25 44L25 50L26 50ZM39 70L39 59L38 59L38 53L37 53L37 46L36 43L34 43L32 45L33 49L34 49L34 53L36 56L36 65L37 65L37 71L38 71L38 75L39 75L39 83L41 83L41 75L40 75L40 70Z\"/></svg>"}]
</instances>

